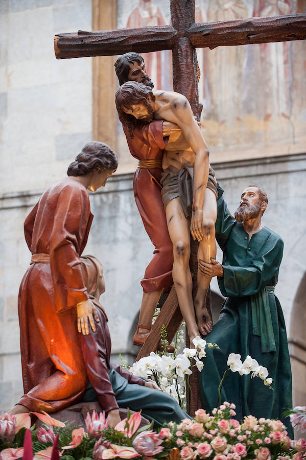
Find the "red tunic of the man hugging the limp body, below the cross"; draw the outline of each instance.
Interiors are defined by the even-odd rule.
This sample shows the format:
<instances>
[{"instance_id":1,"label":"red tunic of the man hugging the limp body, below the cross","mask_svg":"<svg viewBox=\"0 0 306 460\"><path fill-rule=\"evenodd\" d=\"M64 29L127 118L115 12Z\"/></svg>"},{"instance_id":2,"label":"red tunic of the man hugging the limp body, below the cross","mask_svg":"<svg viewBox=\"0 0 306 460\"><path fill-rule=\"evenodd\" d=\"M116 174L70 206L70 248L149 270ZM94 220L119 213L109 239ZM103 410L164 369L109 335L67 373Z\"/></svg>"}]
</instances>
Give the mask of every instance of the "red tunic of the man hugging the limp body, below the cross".
<instances>
[{"instance_id":1,"label":"red tunic of the man hugging the limp body, below the cross","mask_svg":"<svg viewBox=\"0 0 306 460\"><path fill-rule=\"evenodd\" d=\"M137 159L162 159L166 143L162 136L162 120L153 121L133 131L133 139L123 125L130 153ZM167 289L173 284L173 244L166 213L161 200L161 168L137 168L134 175L134 196L147 234L155 246L154 256L145 271L141 285L145 292Z\"/></svg>"}]
</instances>

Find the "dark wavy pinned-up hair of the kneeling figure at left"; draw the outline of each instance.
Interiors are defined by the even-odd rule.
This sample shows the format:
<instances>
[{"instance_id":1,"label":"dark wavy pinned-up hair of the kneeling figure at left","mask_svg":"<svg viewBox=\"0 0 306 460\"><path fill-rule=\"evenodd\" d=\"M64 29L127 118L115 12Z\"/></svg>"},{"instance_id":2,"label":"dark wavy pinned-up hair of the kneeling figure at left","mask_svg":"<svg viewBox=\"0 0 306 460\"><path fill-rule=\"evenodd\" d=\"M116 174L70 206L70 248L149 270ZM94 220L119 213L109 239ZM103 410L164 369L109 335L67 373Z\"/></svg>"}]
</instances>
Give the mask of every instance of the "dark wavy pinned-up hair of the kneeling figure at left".
<instances>
[{"instance_id":1,"label":"dark wavy pinned-up hair of the kneeling figure at left","mask_svg":"<svg viewBox=\"0 0 306 460\"><path fill-rule=\"evenodd\" d=\"M85 176L93 169L116 170L118 158L113 150L104 142L88 142L76 156L74 162L67 169L68 176Z\"/></svg>"}]
</instances>

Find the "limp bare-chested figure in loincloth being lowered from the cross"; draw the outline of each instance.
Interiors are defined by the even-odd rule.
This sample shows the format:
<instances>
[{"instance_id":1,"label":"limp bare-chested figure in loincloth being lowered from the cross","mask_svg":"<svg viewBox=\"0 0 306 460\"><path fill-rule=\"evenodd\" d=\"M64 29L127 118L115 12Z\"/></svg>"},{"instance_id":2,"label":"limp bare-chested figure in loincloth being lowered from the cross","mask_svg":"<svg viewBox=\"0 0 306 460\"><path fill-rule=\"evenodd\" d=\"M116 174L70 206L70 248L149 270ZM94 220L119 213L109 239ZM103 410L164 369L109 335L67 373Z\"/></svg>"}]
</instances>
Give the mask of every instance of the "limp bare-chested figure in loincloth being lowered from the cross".
<instances>
[{"instance_id":1,"label":"limp bare-chested figure in loincloth being lowered from the cross","mask_svg":"<svg viewBox=\"0 0 306 460\"><path fill-rule=\"evenodd\" d=\"M189 268L190 232L200 242L199 259L210 261L211 257L216 257L217 189L214 171L209 169L207 146L189 102L178 93L153 93L147 85L130 81L117 90L115 102L130 137L139 122L150 123L153 118L178 125L183 134L171 133L165 147L161 195L173 243L173 281L192 342L200 333L206 335L212 327L205 306L210 278L198 271L194 309Z\"/></svg>"}]
</instances>

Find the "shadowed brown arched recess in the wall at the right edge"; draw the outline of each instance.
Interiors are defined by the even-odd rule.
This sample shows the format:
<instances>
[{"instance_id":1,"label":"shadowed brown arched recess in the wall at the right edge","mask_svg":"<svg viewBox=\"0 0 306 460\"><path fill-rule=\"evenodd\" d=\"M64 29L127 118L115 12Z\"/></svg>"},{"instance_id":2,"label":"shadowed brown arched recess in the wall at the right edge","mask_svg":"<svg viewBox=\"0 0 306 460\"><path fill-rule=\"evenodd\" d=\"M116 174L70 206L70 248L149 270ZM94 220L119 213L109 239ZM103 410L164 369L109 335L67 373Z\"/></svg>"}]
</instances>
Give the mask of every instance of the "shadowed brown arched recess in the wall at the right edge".
<instances>
[{"instance_id":1,"label":"shadowed brown arched recess in the wall at the right edge","mask_svg":"<svg viewBox=\"0 0 306 460\"><path fill-rule=\"evenodd\" d=\"M296 292L288 339L292 367L293 406L306 401L306 272Z\"/></svg>"}]
</instances>

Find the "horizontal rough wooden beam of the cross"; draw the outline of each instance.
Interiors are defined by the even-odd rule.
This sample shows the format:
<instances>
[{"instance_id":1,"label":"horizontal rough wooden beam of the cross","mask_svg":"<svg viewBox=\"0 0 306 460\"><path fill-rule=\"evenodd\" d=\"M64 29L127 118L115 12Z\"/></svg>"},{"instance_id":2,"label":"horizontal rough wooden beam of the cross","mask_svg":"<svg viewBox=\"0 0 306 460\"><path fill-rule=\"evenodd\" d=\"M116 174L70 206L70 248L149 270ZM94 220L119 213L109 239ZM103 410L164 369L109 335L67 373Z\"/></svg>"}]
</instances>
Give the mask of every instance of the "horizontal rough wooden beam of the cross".
<instances>
[{"instance_id":1,"label":"horizontal rough wooden beam of the cross","mask_svg":"<svg viewBox=\"0 0 306 460\"><path fill-rule=\"evenodd\" d=\"M145 41L143 40L145 37ZM57 59L86 56L114 56L137 51L171 50L178 38L185 37L195 48L267 43L306 39L306 16L250 17L229 21L195 22L185 31L170 26L55 35Z\"/></svg>"}]
</instances>

